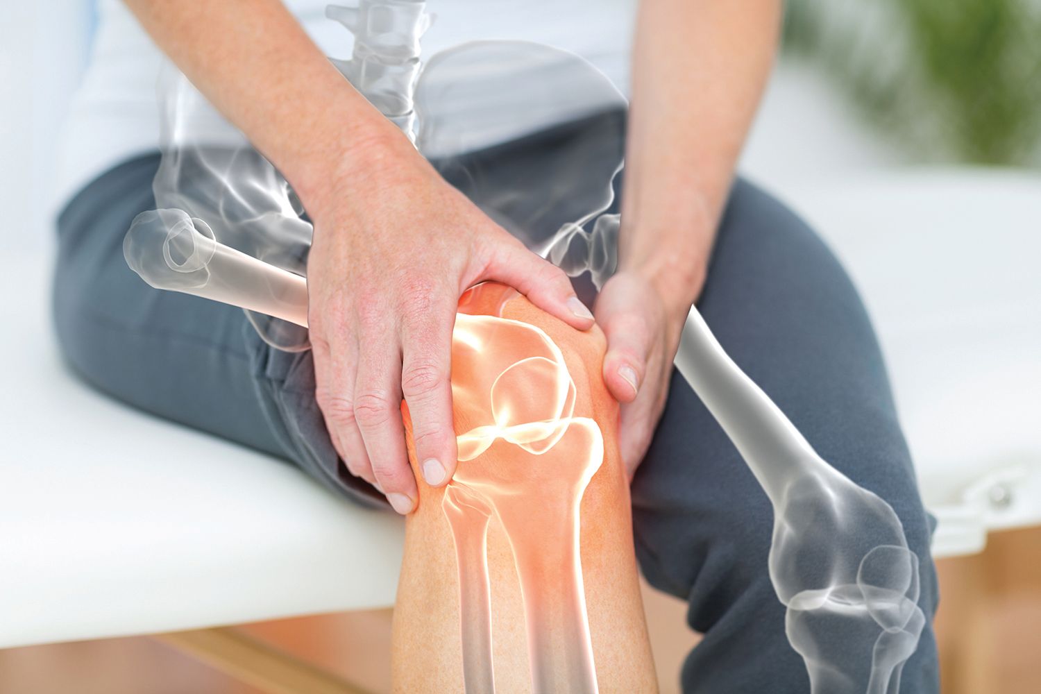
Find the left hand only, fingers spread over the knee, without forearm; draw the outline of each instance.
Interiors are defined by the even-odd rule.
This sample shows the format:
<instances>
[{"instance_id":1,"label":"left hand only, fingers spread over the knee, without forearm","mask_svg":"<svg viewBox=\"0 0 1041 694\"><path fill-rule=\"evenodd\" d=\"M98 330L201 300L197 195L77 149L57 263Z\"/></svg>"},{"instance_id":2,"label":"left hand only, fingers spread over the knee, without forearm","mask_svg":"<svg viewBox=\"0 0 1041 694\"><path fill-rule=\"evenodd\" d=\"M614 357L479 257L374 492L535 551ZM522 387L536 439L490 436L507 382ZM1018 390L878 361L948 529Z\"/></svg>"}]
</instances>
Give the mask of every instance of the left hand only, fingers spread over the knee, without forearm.
<instances>
[{"instance_id":1,"label":"left hand only, fingers spread over the knee, without forearm","mask_svg":"<svg viewBox=\"0 0 1041 694\"><path fill-rule=\"evenodd\" d=\"M593 318L562 271L488 219L400 134L370 151L363 169L332 177L305 201L314 221L307 287L315 397L347 468L407 514L417 487L403 397L427 483L447 484L455 471L449 379L462 292L496 280L577 329Z\"/></svg>"}]
</instances>

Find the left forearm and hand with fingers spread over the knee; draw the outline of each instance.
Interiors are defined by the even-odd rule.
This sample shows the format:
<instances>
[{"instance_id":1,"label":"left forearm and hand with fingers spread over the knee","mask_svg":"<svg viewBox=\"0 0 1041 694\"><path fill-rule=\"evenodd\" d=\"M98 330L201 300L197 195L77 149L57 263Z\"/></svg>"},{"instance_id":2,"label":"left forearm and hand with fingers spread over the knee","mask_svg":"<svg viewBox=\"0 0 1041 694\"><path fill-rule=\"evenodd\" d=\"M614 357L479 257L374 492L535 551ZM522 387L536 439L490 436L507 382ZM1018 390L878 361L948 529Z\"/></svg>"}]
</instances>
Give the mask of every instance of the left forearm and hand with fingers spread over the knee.
<instances>
[{"instance_id":1,"label":"left forearm and hand with fingers spread over the knee","mask_svg":"<svg viewBox=\"0 0 1041 694\"><path fill-rule=\"evenodd\" d=\"M499 280L568 325L566 276L440 178L276 0L128 0L142 25L286 177L314 222L308 324L315 397L348 468L414 508L399 405L431 481L455 469L449 389L460 294ZM418 252L422 250L422 252Z\"/></svg>"}]
</instances>

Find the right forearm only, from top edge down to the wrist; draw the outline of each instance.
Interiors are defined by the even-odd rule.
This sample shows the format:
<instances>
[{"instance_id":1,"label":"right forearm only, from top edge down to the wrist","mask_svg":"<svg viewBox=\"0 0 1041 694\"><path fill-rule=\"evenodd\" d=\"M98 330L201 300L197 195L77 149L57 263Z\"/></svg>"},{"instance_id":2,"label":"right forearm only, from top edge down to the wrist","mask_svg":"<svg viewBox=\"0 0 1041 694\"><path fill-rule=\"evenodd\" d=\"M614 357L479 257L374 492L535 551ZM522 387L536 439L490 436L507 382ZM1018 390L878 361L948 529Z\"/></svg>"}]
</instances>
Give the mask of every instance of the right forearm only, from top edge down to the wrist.
<instances>
[{"instance_id":1,"label":"right forearm only, from top edge down to the wrist","mask_svg":"<svg viewBox=\"0 0 1041 694\"><path fill-rule=\"evenodd\" d=\"M633 55L619 268L686 308L777 48L779 0L643 0Z\"/></svg>"}]
</instances>

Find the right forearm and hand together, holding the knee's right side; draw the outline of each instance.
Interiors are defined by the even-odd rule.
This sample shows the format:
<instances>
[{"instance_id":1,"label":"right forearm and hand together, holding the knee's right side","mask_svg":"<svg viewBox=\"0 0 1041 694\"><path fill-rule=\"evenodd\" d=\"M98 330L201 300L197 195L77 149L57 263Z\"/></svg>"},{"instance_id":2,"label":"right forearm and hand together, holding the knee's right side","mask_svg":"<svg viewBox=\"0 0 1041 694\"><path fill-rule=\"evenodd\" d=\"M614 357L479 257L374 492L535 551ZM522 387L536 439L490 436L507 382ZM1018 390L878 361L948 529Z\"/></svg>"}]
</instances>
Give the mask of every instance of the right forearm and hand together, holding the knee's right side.
<instances>
[{"instance_id":1,"label":"right forearm and hand together, holding the knee's right side","mask_svg":"<svg viewBox=\"0 0 1041 694\"><path fill-rule=\"evenodd\" d=\"M618 446L630 477L665 405L680 332L772 65L782 5L639 4L618 272L594 307L607 335L604 380L623 403Z\"/></svg>"}]
</instances>

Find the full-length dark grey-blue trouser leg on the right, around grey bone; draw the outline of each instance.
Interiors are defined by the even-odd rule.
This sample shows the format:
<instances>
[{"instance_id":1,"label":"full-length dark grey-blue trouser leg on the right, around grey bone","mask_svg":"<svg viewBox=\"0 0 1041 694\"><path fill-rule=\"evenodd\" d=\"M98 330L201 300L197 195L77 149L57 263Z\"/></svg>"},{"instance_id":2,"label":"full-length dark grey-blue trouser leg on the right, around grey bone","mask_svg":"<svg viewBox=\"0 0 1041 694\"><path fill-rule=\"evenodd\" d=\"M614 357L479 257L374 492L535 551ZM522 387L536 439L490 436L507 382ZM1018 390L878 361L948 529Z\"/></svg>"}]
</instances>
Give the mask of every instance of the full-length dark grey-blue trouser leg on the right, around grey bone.
<instances>
[{"instance_id":1,"label":"full-length dark grey-blue trouser leg on the right, around grey bone","mask_svg":"<svg viewBox=\"0 0 1041 694\"><path fill-rule=\"evenodd\" d=\"M723 349L820 456L886 499L921 560L929 623L902 692L937 692L930 519L867 314L841 266L780 203L738 181L699 309ZM656 588L689 601L704 634L682 672L688 694L805 694L767 575L772 510L736 448L674 371L664 415L633 481L636 551Z\"/></svg>"}]
</instances>

